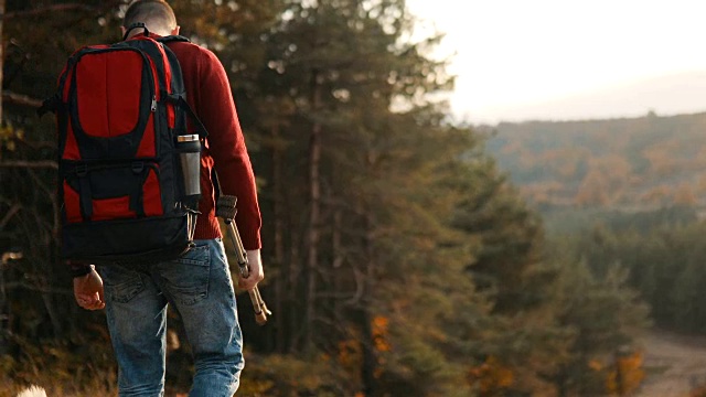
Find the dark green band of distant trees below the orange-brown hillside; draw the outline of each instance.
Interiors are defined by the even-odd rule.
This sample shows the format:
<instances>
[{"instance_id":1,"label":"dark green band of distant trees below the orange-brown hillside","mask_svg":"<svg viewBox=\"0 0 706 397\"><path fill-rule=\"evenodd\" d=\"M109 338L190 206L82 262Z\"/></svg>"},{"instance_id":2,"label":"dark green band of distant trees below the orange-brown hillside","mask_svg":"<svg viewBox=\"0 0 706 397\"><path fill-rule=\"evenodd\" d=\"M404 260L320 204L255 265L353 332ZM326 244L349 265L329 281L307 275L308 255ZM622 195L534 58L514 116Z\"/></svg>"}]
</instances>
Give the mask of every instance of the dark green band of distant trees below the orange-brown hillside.
<instances>
[{"instance_id":1,"label":"dark green band of distant trees below the orange-brown hillside","mask_svg":"<svg viewBox=\"0 0 706 397\"><path fill-rule=\"evenodd\" d=\"M605 273L614 264L629 271L630 286L650 304L657 325L702 333L704 232L699 222L656 224L639 233L602 227L591 238L575 239L571 249L596 271Z\"/></svg>"}]
</instances>

